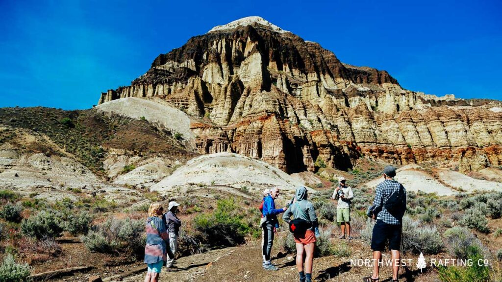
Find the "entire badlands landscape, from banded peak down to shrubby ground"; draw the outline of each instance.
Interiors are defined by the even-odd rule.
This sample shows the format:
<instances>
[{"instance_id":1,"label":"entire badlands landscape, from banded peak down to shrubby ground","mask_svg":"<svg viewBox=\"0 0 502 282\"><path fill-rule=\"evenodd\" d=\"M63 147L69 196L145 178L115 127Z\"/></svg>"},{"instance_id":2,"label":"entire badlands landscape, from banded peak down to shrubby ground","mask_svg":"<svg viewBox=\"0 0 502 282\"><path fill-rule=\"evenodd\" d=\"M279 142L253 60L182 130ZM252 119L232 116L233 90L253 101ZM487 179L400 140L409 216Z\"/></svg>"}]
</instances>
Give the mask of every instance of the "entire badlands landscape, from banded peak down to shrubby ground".
<instances>
[{"instance_id":1,"label":"entire badlands landscape, from banded peak down to shrubby ground","mask_svg":"<svg viewBox=\"0 0 502 282\"><path fill-rule=\"evenodd\" d=\"M323 230L314 277L358 281L368 270L349 260L371 255L364 210L394 164L410 195L407 257L422 251L417 241L428 256L451 257L444 233L463 228L500 281L501 146L500 101L407 90L386 71L243 18L159 55L90 109L0 108L0 251L35 280L141 281L146 210L176 200L180 269L161 281L291 281L285 225L273 253L280 270L261 267L257 206L264 188L281 189L282 207L303 185ZM335 239L339 176L356 196L350 242Z\"/></svg>"}]
</instances>

